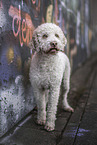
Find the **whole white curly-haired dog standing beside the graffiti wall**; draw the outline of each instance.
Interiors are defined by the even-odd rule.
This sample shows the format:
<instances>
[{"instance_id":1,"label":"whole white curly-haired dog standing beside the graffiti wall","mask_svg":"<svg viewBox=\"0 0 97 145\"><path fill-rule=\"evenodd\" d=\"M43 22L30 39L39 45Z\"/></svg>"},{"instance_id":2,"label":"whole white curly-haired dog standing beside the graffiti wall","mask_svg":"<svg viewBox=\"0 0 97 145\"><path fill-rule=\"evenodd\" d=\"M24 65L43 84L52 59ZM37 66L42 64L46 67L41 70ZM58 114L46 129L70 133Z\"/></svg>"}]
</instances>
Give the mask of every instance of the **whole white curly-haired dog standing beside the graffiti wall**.
<instances>
[{"instance_id":1,"label":"whole white curly-haired dog standing beside the graffiti wall","mask_svg":"<svg viewBox=\"0 0 97 145\"><path fill-rule=\"evenodd\" d=\"M60 87L63 88L63 108L73 112L67 102L70 63L64 53L65 45L62 30L52 23L38 26L29 43L29 47L35 51L31 60L30 81L38 108L37 122L45 125L47 131L55 128Z\"/></svg>"}]
</instances>

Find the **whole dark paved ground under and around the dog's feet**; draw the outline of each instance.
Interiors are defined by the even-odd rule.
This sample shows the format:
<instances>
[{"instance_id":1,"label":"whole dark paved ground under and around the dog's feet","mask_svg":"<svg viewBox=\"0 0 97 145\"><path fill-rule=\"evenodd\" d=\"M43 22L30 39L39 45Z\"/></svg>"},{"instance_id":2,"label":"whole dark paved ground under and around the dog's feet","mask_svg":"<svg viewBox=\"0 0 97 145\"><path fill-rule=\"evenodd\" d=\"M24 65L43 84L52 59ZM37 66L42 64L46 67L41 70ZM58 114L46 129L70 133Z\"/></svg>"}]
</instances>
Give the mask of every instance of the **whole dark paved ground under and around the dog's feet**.
<instances>
[{"instance_id":1,"label":"whole dark paved ground under and around the dog's feet","mask_svg":"<svg viewBox=\"0 0 97 145\"><path fill-rule=\"evenodd\" d=\"M75 111L65 112L59 104L55 131L35 123L34 109L0 139L0 145L96 145L97 54L72 74L68 99Z\"/></svg>"}]
</instances>

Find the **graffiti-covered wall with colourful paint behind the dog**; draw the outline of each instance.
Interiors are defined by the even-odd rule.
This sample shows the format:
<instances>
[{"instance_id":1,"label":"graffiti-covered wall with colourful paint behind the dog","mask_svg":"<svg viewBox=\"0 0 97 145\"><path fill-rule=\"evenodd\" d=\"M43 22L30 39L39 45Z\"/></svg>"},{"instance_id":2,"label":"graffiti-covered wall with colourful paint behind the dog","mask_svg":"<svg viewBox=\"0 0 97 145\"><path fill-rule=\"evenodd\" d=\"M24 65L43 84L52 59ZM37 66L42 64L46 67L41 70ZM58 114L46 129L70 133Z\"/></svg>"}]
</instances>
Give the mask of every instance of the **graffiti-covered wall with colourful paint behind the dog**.
<instances>
[{"instance_id":1,"label":"graffiti-covered wall with colourful paint behind the dog","mask_svg":"<svg viewBox=\"0 0 97 145\"><path fill-rule=\"evenodd\" d=\"M72 71L90 55L89 0L0 0L0 136L35 106L28 44L45 22L59 25L67 37Z\"/></svg>"}]
</instances>

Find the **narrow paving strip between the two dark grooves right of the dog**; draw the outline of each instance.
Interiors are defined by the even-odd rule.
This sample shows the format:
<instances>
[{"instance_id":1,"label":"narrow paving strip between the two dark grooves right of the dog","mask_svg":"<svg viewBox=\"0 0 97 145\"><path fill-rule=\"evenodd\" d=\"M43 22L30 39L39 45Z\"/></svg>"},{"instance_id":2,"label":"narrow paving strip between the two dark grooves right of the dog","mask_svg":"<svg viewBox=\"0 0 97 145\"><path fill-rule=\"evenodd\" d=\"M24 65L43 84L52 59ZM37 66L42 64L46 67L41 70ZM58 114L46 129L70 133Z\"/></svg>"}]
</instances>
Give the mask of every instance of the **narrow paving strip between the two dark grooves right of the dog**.
<instances>
[{"instance_id":1,"label":"narrow paving strip between the two dark grooves right of the dog","mask_svg":"<svg viewBox=\"0 0 97 145\"><path fill-rule=\"evenodd\" d=\"M83 92L83 95L80 96L80 100L75 109L75 112L72 114L65 130L61 134L61 141L57 142L58 145L75 145L76 136L81 137L81 135L83 135L84 132L88 132L88 130L80 128L80 123L83 117L83 113L85 111L87 100L89 98L90 88L91 88L93 79L94 79L94 72L92 73L87 83L87 86L86 86L85 91Z\"/></svg>"}]
</instances>

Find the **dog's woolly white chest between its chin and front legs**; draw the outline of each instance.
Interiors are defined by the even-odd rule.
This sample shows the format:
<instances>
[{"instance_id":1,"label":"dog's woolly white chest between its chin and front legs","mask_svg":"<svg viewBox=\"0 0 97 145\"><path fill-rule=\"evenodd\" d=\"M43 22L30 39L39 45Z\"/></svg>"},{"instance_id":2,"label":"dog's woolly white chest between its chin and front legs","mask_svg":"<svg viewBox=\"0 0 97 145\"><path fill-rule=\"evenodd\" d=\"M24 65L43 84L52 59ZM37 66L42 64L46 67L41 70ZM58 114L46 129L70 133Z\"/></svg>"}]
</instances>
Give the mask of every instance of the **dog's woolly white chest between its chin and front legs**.
<instances>
[{"instance_id":1,"label":"dog's woolly white chest between its chin and front legs","mask_svg":"<svg viewBox=\"0 0 97 145\"><path fill-rule=\"evenodd\" d=\"M35 59L37 59L37 57ZM32 62L31 74L32 77L34 77L36 81L39 81L41 85L47 86L52 82L61 82L64 69L64 55L57 54L53 56L41 57L36 61L34 60L34 62Z\"/></svg>"}]
</instances>

